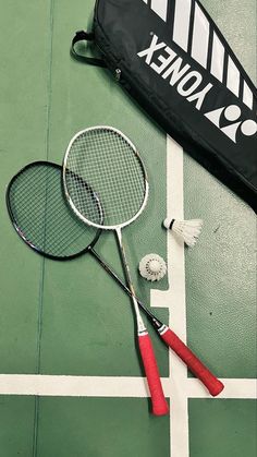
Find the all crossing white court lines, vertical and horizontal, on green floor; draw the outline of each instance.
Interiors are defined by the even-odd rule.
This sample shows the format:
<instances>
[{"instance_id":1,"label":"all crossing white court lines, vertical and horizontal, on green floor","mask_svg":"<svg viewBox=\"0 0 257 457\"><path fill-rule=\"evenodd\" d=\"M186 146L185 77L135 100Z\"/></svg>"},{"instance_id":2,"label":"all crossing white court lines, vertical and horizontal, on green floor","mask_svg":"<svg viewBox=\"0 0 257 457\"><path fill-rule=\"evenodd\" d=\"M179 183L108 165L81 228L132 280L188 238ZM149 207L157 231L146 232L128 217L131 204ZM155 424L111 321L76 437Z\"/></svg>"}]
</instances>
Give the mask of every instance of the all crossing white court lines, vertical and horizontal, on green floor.
<instances>
[{"instance_id":1,"label":"all crossing white court lines, vertical and horizontal, on green floor","mask_svg":"<svg viewBox=\"0 0 257 457\"><path fill-rule=\"evenodd\" d=\"M167 216L183 219L183 151L172 139L167 141ZM169 309L170 327L186 342L184 245L171 232L167 252L169 290L152 290L151 303ZM172 351L169 362L169 377L161 381L171 401L170 456L188 457L188 399L212 397L198 380L187 377L187 368ZM225 388L220 399L257 398L256 380L221 381ZM149 392L143 377L0 374L0 395L144 398Z\"/></svg>"}]
</instances>

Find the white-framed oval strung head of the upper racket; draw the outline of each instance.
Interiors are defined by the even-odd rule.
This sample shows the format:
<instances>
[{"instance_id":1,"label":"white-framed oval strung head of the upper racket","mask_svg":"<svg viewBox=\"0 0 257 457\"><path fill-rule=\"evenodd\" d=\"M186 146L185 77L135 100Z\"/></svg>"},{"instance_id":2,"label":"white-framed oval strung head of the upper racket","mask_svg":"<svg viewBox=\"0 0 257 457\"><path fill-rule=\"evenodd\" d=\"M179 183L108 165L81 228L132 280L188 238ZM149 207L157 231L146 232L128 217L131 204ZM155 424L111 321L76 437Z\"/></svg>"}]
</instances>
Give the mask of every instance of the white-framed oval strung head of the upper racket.
<instances>
[{"instance_id":1,"label":"white-framed oval strung head of the upper racket","mask_svg":"<svg viewBox=\"0 0 257 457\"><path fill-rule=\"evenodd\" d=\"M103 212L101 225L90 201L77 192L71 173L93 190ZM63 159L63 189L73 212L87 225L121 229L144 211L149 193L147 172L134 144L118 129L91 127L76 133Z\"/></svg>"}]
</instances>

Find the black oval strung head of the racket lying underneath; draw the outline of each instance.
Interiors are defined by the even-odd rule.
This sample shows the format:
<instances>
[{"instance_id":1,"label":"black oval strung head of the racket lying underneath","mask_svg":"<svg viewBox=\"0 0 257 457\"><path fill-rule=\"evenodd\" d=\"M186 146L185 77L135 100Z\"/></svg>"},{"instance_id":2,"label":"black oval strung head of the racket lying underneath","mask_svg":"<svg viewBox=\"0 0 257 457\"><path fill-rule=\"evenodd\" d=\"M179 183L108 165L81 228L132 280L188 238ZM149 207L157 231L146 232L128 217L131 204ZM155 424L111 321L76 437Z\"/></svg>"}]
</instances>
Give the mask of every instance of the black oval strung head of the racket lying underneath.
<instances>
[{"instance_id":1,"label":"black oval strung head of the racket lying underneath","mask_svg":"<svg viewBox=\"0 0 257 457\"><path fill-rule=\"evenodd\" d=\"M86 227L71 211L62 188L62 167L35 161L22 168L5 193L10 219L17 234L47 258L69 261L88 252L101 230ZM99 202L99 218L102 217Z\"/></svg>"}]
</instances>

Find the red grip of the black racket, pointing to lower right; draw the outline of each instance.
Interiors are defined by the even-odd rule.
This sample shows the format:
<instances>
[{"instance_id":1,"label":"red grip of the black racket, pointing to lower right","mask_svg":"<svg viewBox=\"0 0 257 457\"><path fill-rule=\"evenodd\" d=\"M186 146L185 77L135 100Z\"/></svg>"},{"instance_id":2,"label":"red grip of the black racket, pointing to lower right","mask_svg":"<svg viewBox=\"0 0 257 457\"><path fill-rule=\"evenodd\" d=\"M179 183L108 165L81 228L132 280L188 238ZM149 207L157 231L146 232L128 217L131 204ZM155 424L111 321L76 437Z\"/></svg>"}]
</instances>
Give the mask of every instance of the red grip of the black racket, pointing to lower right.
<instances>
[{"instance_id":1,"label":"red grip of the black racket, pointing to lower right","mask_svg":"<svg viewBox=\"0 0 257 457\"><path fill-rule=\"evenodd\" d=\"M208 388L212 397L223 390L224 385L200 362L191 349L169 327L160 334L163 341L185 362L188 369Z\"/></svg>"}]
</instances>

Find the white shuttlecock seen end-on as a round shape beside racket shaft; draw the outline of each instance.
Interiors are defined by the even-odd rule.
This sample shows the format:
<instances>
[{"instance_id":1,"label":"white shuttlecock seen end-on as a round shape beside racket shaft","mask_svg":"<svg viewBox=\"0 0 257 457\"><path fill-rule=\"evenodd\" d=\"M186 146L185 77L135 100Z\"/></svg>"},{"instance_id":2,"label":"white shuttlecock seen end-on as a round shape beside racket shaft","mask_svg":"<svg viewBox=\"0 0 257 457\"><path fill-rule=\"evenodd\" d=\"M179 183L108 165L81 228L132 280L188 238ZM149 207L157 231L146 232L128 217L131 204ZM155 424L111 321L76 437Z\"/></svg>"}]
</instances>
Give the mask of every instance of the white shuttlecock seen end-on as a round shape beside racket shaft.
<instances>
[{"instance_id":1,"label":"white shuttlecock seen end-on as a round shape beside racket shaft","mask_svg":"<svg viewBox=\"0 0 257 457\"><path fill-rule=\"evenodd\" d=\"M148 281L159 281L167 273L164 260L158 254L147 254L139 263L139 272Z\"/></svg>"}]
</instances>

